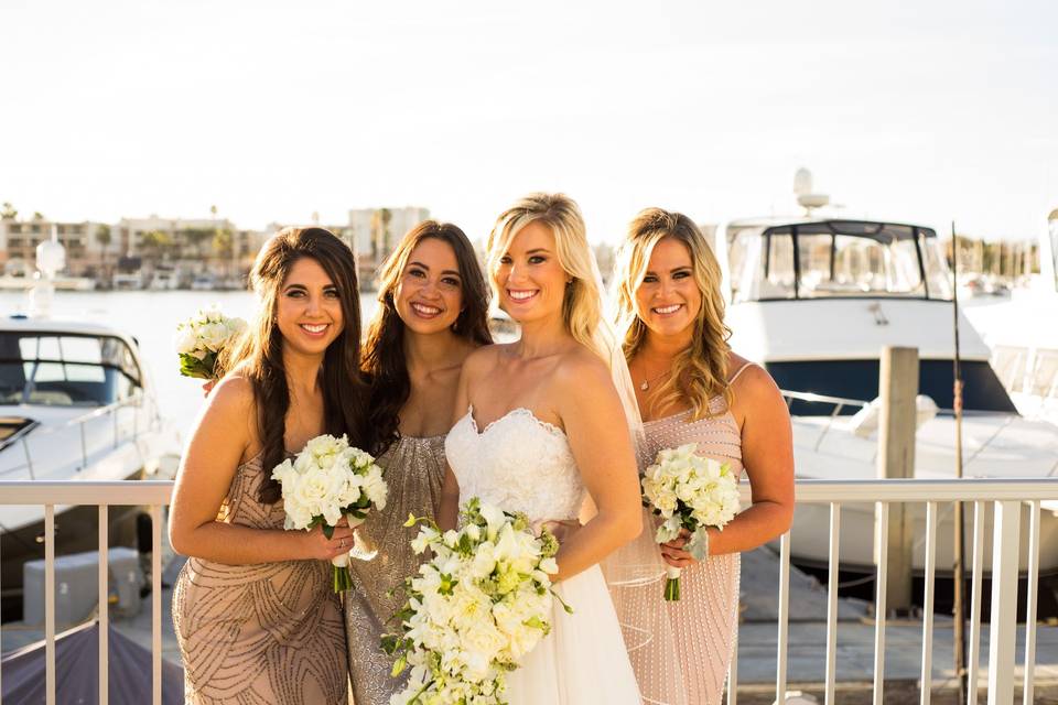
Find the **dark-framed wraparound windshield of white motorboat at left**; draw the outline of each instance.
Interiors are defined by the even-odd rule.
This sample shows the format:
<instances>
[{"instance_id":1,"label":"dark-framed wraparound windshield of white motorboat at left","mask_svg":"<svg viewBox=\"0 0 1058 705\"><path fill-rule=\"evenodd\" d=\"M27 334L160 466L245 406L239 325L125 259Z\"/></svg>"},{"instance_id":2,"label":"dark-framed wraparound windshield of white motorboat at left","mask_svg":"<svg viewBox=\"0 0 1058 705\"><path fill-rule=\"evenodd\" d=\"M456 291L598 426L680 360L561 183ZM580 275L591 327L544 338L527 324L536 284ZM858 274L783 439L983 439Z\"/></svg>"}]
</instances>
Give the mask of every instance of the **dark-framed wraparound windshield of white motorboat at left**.
<instances>
[{"instance_id":1,"label":"dark-framed wraparound windshield of white motorboat at left","mask_svg":"<svg viewBox=\"0 0 1058 705\"><path fill-rule=\"evenodd\" d=\"M105 406L141 387L132 350L120 338L0 332L0 404Z\"/></svg>"}]
</instances>

